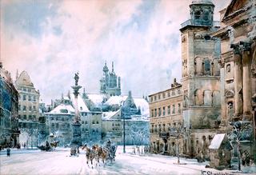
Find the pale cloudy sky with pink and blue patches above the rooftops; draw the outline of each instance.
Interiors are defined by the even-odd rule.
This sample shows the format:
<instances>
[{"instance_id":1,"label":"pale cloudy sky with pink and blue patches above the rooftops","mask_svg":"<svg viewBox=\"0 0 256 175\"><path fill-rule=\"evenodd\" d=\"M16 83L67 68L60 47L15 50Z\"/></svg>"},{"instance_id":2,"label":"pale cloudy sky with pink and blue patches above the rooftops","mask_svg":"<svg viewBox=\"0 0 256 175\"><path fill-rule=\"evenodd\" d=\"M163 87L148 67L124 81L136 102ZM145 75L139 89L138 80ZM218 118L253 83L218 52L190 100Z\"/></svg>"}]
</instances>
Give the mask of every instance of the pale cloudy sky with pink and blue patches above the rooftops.
<instances>
[{"instance_id":1,"label":"pale cloudy sky with pink and blue patches above the rooftops","mask_svg":"<svg viewBox=\"0 0 256 175\"><path fill-rule=\"evenodd\" d=\"M98 93L102 67L134 97L181 78L180 24L191 0L1 0L1 57L15 78L26 70L46 103L74 84ZM214 20L230 0L214 0Z\"/></svg>"}]
</instances>

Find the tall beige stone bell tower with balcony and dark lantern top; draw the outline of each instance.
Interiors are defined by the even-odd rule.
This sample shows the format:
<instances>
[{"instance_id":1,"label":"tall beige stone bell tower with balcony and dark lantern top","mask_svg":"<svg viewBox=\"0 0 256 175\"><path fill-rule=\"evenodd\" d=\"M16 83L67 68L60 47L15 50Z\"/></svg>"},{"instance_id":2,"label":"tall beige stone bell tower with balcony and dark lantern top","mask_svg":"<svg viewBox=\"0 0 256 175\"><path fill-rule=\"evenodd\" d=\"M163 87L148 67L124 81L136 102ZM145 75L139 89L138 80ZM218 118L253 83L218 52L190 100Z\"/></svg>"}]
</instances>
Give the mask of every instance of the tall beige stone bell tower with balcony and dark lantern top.
<instances>
[{"instance_id":1,"label":"tall beige stone bell tower with balcony and dark lantern top","mask_svg":"<svg viewBox=\"0 0 256 175\"><path fill-rule=\"evenodd\" d=\"M220 41L210 34L219 29L213 21L214 4L194 0L190 19L182 23L182 116L189 129L186 153L209 158L210 141L221 121Z\"/></svg>"}]
</instances>

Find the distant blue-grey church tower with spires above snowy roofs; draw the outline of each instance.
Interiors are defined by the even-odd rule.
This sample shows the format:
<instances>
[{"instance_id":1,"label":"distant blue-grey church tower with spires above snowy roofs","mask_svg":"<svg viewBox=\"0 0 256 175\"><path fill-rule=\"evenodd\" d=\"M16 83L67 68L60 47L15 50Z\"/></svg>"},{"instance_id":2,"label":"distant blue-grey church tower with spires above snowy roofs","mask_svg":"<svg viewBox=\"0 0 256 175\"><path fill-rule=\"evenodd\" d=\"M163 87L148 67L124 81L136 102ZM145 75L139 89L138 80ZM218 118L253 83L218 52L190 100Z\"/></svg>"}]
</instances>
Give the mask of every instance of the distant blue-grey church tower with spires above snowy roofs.
<instances>
[{"instance_id":1,"label":"distant blue-grey church tower with spires above snowy roofs","mask_svg":"<svg viewBox=\"0 0 256 175\"><path fill-rule=\"evenodd\" d=\"M100 79L100 93L109 96L121 95L121 78L114 73L114 62L112 62L111 72L105 62L103 76Z\"/></svg>"}]
</instances>

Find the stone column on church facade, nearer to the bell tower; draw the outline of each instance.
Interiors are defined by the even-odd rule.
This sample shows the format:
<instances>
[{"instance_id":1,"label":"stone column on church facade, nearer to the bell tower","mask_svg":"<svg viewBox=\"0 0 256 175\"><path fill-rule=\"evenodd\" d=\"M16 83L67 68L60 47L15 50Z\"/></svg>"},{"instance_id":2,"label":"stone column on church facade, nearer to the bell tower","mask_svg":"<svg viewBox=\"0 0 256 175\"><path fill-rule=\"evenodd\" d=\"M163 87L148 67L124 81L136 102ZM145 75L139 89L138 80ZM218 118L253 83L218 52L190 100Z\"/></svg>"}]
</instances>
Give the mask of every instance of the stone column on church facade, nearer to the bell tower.
<instances>
[{"instance_id":1,"label":"stone column on church facade, nearer to the bell tower","mask_svg":"<svg viewBox=\"0 0 256 175\"><path fill-rule=\"evenodd\" d=\"M242 55L238 44L231 45L234 49L234 121L242 116Z\"/></svg>"}]
</instances>

